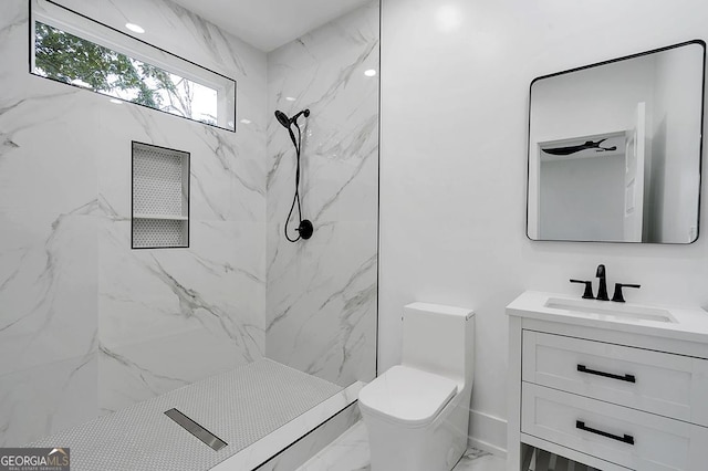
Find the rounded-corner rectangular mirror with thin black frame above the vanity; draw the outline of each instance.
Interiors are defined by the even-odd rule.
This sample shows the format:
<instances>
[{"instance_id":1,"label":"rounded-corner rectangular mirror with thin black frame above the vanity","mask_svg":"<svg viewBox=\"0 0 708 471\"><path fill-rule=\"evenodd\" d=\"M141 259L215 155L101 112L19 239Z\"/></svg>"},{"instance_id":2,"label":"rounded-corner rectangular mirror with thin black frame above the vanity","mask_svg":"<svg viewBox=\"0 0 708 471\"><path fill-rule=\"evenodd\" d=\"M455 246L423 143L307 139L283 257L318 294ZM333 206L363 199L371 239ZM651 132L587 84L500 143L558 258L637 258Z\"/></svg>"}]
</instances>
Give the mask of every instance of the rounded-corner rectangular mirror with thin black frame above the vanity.
<instances>
[{"instance_id":1,"label":"rounded-corner rectangular mirror with thin black frame above the vanity","mask_svg":"<svg viewBox=\"0 0 708 471\"><path fill-rule=\"evenodd\" d=\"M531 82L529 239L698 238L705 62L697 40Z\"/></svg>"}]
</instances>

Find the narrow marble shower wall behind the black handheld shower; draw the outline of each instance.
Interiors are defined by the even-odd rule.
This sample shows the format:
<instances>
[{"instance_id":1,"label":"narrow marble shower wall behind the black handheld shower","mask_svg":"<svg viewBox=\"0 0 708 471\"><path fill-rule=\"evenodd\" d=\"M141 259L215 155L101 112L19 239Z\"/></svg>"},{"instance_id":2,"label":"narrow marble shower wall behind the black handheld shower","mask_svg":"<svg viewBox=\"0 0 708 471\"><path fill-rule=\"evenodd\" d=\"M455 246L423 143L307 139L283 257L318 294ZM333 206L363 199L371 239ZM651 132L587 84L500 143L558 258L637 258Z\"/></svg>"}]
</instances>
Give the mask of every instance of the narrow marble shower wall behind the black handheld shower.
<instances>
[{"instance_id":1,"label":"narrow marble shower wall behind the black handheld shower","mask_svg":"<svg viewBox=\"0 0 708 471\"><path fill-rule=\"evenodd\" d=\"M378 76L364 71L378 71L378 10L373 1L268 55L266 354L342 386L376 368ZM314 234L290 243L295 153L273 112L303 108Z\"/></svg>"}]
</instances>

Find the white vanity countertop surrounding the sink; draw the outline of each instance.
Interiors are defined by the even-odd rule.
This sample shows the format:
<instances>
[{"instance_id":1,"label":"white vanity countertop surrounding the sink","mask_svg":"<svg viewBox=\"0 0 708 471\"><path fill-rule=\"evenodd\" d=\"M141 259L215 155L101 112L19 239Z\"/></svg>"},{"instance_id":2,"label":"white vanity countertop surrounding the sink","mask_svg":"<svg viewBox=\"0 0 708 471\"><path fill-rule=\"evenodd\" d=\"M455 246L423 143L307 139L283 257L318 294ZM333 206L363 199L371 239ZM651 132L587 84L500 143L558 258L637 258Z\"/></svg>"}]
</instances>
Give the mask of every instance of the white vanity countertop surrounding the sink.
<instances>
[{"instance_id":1,"label":"white vanity countertop surrounding the sink","mask_svg":"<svg viewBox=\"0 0 708 471\"><path fill-rule=\"evenodd\" d=\"M572 308L549 307L549 300L577 304L585 311L593 308L607 311L646 311L650 313L668 313L675 322L662 322L646 318L628 318L610 313L581 312ZM688 342L708 343L708 312L700 307L675 307L667 305L642 305L633 303L615 303L612 301L583 300L566 294L525 291L507 305L510 316L534 318L539 321L559 322L596 328L676 338Z\"/></svg>"}]
</instances>

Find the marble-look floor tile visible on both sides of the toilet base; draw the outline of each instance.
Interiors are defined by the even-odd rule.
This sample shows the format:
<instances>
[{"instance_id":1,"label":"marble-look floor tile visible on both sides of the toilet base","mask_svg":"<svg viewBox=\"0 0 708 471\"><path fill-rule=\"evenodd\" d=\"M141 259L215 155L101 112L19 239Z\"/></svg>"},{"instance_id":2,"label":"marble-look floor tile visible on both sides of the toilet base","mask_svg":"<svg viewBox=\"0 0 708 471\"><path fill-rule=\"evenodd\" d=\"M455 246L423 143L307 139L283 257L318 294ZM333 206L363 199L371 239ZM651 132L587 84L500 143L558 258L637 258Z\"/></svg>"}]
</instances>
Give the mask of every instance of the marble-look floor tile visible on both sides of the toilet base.
<instances>
[{"instance_id":1,"label":"marble-look floor tile visible on both sides of the toilet base","mask_svg":"<svg viewBox=\"0 0 708 471\"><path fill-rule=\"evenodd\" d=\"M506 463L502 458L470 448L452 471L503 471ZM298 468L298 471L369 470L368 436L363 421L356 422L329 447Z\"/></svg>"}]
</instances>

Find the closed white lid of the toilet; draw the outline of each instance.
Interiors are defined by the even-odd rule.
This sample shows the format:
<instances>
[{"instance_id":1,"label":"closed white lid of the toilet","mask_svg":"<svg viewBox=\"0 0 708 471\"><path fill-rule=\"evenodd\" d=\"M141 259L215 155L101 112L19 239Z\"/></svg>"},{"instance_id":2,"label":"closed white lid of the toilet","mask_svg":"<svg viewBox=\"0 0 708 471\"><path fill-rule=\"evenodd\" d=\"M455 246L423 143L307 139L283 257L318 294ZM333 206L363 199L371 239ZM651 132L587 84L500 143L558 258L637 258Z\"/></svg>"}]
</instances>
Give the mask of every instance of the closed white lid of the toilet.
<instances>
[{"instance_id":1,"label":"closed white lid of the toilet","mask_svg":"<svg viewBox=\"0 0 708 471\"><path fill-rule=\"evenodd\" d=\"M364 386L358 401L369 412L407 425L435 418L457 393L457 384L442 376L397 365Z\"/></svg>"}]
</instances>

